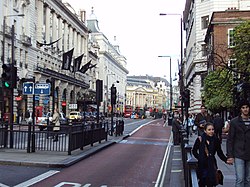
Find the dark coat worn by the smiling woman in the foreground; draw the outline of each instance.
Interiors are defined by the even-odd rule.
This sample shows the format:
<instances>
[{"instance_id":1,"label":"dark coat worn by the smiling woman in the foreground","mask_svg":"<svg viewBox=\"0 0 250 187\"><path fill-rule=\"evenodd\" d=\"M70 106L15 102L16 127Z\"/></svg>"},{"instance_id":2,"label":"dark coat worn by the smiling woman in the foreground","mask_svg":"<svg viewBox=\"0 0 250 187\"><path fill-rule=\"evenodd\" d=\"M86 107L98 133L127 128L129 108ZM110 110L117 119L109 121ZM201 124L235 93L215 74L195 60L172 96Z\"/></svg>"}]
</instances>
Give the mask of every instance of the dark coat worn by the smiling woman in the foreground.
<instances>
[{"instance_id":1,"label":"dark coat worn by the smiling woman in the foreground","mask_svg":"<svg viewBox=\"0 0 250 187\"><path fill-rule=\"evenodd\" d=\"M210 142L209 145L207 144L207 140L209 140ZM205 147L207 147L208 155L206 154ZM216 185L215 172L218 167L215 154L217 153L219 158L225 163L227 161L227 158L221 149L220 140L216 136L208 138L204 133L201 136L201 139L198 137L195 140L192 153L198 160L198 178L206 178L206 181L209 181L211 184Z\"/></svg>"}]
</instances>

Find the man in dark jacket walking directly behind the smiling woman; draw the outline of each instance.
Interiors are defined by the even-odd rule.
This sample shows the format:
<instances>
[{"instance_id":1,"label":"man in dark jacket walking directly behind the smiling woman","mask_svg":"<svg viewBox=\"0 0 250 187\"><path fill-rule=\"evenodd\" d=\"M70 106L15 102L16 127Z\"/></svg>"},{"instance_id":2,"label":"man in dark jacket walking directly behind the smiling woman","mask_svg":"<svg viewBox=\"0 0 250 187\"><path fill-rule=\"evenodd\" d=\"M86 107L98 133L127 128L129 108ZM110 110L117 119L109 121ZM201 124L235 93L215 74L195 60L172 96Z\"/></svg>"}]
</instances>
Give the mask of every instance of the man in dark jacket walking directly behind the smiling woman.
<instances>
[{"instance_id":1,"label":"man in dark jacket walking directly behind the smiling woman","mask_svg":"<svg viewBox=\"0 0 250 187\"><path fill-rule=\"evenodd\" d=\"M198 136L201 136L204 132L204 125L206 122L212 122L212 117L207 112L205 105L201 105L201 112L198 113L194 120L194 125L197 126Z\"/></svg>"}]
</instances>

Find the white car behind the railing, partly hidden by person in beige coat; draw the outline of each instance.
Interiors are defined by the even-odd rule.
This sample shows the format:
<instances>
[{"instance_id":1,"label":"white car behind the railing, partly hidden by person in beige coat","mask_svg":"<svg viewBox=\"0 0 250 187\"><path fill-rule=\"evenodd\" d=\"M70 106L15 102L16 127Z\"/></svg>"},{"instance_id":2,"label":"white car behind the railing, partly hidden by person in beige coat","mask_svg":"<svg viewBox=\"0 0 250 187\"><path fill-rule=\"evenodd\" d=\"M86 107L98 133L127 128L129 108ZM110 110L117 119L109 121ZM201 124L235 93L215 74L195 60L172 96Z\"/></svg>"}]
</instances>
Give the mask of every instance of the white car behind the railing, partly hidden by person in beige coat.
<instances>
[{"instance_id":1,"label":"white car behind the railing, partly hidden by person in beige coat","mask_svg":"<svg viewBox=\"0 0 250 187\"><path fill-rule=\"evenodd\" d=\"M52 121L51 115L52 115L51 112L48 112L47 114L44 114L42 117L37 118L36 123L38 125L38 128L41 131L44 130L45 128L47 128L48 120L49 120L49 123ZM61 125L68 124L68 118L65 116L65 114L63 112L59 112L59 115L60 115L60 118L59 118L60 124Z\"/></svg>"}]
</instances>

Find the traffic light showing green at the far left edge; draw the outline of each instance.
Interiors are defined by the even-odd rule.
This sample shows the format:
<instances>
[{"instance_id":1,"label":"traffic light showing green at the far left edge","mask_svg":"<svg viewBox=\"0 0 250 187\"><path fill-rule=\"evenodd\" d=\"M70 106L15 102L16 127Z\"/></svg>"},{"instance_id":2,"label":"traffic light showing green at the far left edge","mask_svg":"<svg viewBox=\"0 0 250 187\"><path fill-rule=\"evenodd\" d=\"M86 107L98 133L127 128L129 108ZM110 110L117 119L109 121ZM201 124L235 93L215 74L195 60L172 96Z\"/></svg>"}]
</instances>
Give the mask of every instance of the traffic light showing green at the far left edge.
<instances>
[{"instance_id":1,"label":"traffic light showing green at the far left edge","mask_svg":"<svg viewBox=\"0 0 250 187\"><path fill-rule=\"evenodd\" d=\"M16 88L17 83L17 68L12 64L3 64L2 84L4 88Z\"/></svg>"}]
</instances>

